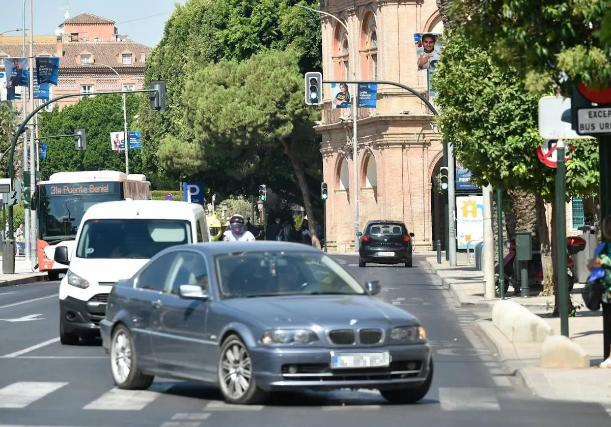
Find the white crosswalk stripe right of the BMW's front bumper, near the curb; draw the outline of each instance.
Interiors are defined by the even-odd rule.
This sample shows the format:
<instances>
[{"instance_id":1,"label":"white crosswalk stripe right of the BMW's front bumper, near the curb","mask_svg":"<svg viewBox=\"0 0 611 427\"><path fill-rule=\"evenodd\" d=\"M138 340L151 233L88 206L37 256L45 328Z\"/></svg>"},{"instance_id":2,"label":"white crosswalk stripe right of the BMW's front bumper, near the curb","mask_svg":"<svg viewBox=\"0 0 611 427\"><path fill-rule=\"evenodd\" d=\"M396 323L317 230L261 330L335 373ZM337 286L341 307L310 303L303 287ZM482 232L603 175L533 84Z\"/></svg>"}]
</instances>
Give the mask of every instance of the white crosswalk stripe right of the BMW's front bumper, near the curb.
<instances>
[{"instance_id":1,"label":"white crosswalk stripe right of the BMW's front bumper, near the curb","mask_svg":"<svg viewBox=\"0 0 611 427\"><path fill-rule=\"evenodd\" d=\"M439 387L442 411L500 411L494 389L478 387Z\"/></svg>"}]
</instances>

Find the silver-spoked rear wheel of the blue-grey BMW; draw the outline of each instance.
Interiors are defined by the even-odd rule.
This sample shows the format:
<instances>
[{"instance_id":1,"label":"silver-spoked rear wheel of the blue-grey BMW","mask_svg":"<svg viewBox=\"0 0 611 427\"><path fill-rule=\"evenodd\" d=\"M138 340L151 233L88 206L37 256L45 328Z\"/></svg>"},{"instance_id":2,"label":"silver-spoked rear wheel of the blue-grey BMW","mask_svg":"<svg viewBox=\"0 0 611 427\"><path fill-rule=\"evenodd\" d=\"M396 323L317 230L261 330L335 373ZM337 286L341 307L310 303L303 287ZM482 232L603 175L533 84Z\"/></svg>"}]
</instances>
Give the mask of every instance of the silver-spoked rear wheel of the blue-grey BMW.
<instances>
[{"instance_id":1,"label":"silver-spoked rear wheel of the blue-grey BMW","mask_svg":"<svg viewBox=\"0 0 611 427\"><path fill-rule=\"evenodd\" d=\"M117 326L112 334L111 371L117 387L126 390L146 390L155 378L139 370L133 339L123 325Z\"/></svg>"}]
</instances>

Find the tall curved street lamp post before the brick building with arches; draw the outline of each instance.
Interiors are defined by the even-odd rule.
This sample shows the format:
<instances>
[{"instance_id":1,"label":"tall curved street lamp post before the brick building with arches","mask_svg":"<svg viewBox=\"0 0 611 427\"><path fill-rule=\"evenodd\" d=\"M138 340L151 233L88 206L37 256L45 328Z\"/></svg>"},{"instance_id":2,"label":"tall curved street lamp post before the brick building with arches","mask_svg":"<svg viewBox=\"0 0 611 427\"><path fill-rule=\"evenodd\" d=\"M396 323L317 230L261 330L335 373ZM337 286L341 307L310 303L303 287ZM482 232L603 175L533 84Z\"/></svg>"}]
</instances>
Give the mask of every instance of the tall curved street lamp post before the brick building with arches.
<instances>
[{"instance_id":1,"label":"tall curved street lamp post before the brick building with arches","mask_svg":"<svg viewBox=\"0 0 611 427\"><path fill-rule=\"evenodd\" d=\"M316 13L320 13L321 15L325 15L325 16L329 16L329 18L334 19L335 21L337 21L342 27L343 29L346 30L346 38L348 38L348 43L350 44L350 50L353 52L353 60L351 60L351 64L352 64L352 75L354 77L354 80L356 80L356 61L358 60L360 62L360 57L358 54L358 51L356 50L356 45L354 45L353 43L353 38L350 35L350 32L348 30L348 27L346 26L346 24L344 24L342 22L342 20L340 20L340 18L338 18L335 15L331 15L331 13L327 13L327 12L323 12L323 10L316 10L316 9L312 9L311 7L307 7L301 4L297 5L298 7L301 7L302 9L306 9L306 10L310 10L311 12L316 12ZM359 251L359 237L357 236L358 232L359 232L359 153L358 153L358 140L357 140L357 126L356 126L356 119L357 119L357 96L359 93L359 85L357 83L353 84L353 88L352 88L352 159L353 159L353 186L354 186L354 190L353 190L353 203L354 203L354 251L358 252Z\"/></svg>"}]
</instances>

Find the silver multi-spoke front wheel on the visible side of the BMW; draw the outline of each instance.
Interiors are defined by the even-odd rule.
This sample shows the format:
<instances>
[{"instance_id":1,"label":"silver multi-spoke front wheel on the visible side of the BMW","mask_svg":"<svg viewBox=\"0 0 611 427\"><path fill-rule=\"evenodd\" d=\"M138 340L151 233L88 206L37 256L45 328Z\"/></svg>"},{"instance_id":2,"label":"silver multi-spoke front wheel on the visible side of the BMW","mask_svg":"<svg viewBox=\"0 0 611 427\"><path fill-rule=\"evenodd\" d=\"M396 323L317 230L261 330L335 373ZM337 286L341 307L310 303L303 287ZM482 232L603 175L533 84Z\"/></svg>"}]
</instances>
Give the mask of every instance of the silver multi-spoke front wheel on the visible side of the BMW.
<instances>
[{"instance_id":1,"label":"silver multi-spoke front wheel on the visible side of the BMW","mask_svg":"<svg viewBox=\"0 0 611 427\"><path fill-rule=\"evenodd\" d=\"M257 404L268 398L255 381L251 356L237 335L230 335L221 346L219 384L226 401L233 404Z\"/></svg>"}]
</instances>

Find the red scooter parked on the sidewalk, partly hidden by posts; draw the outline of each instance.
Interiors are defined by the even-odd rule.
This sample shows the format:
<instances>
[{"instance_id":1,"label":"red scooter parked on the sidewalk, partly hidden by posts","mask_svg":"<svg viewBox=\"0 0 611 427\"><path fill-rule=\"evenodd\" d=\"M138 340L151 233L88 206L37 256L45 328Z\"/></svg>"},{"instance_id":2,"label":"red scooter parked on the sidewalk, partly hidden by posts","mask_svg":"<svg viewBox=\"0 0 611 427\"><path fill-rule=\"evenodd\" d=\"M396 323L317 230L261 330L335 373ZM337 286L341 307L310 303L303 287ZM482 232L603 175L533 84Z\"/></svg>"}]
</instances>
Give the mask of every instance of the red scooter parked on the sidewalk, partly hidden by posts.
<instances>
[{"instance_id":1,"label":"red scooter parked on the sidewalk, partly hidden by posts","mask_svg":"<svg viewBox=\"0 0 611 427\"><path fill-rule=\"evenodd\" d=\"M521 292L521 276L519 271L518 260L516 260L516 241L506 240L505 245L509 248L509 253L503 258L503 271L505 277L503 284L505 285L505 293L509 290L509 286L513 287L514 292ZM571 255L577 254L585 249L586 242L582 237L569 236L566 238L566 285L569 292L573 290L575 285L575 267ZM541 285L543 282L543 263L541 262L541 251L533 251L532 259L527 262L527 271L529 278L529 287L531 285ZM496 292L500 292L499 287L499 263L494 266L496 276Z\"/></svg>"}]
</instances>

